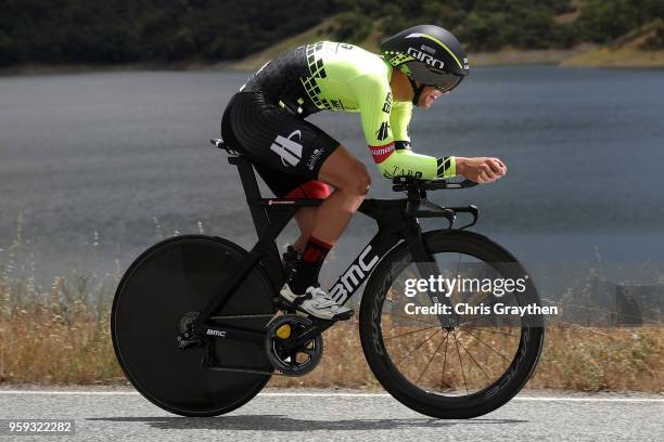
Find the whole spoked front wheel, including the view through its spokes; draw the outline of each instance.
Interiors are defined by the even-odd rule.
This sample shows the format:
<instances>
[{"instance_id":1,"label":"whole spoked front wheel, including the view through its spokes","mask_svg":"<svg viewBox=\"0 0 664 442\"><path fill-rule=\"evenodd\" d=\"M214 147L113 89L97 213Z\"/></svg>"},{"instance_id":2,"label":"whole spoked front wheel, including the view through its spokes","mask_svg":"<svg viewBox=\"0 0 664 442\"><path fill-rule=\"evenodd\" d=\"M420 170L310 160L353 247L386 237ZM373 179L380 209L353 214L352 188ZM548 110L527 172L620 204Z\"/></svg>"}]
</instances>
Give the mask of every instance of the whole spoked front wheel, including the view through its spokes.
<instances>
[{"instance_id":1,"label":"whole spoked front wheel, including the view through its spokes","mask_svg":"<svg viewBox=\"0 0 664 442\"><path fill-rule=\"evenodd\" d=\"M447 419L481 416L521 390L544 343L541 315L503 317L494 309L539 306L539 298L523 266L490 239L434 231L424 240L436 261L429 269L439 273L423 276L405 243L383 258L362 295L362 349L381 385L409 408ZM459 284L417 286L432 276L436 284ZM497 284L482 285L519 277L524 290L510 294L505 286L497 294ZM440 288L447 295L435 292ZM452 313L432 309L438 300Z\"/></svg>"}]
</instances>

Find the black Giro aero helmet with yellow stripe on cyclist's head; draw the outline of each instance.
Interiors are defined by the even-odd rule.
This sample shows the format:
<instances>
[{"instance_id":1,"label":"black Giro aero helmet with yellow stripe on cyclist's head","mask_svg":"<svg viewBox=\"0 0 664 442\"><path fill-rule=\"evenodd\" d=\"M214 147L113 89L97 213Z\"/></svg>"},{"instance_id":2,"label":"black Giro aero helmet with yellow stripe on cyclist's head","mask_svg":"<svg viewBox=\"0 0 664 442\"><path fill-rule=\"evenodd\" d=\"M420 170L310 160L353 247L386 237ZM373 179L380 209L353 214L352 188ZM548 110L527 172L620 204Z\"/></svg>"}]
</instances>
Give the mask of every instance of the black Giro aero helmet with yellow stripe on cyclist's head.
<instances>
[{"instance_id":1,"label":"black Giro aero helmet with yellow stripe on cyclist's head","mask_svg":"<svg viewBox=\"0 0 664 442\"><path fill-rule=\"evenodd\" d=\"M381 52L391 65L408 75L413 90L414 81L420 81L449 91L469 73L468 56L459 40L436 25L413 26L386 38Z\"/></svg>"}]
</instances>

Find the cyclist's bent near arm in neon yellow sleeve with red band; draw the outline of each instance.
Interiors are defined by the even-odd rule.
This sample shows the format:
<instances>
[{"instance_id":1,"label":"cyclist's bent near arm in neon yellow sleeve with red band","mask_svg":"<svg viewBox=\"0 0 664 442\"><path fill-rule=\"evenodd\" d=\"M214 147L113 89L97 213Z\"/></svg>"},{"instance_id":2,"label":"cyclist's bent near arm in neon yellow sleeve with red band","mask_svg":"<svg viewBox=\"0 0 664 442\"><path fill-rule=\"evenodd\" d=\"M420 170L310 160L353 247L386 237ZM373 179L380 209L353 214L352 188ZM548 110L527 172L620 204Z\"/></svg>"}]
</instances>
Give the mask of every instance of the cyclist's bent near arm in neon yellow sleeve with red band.
<instances>
[{"instance_id":1,"label":"cyclist's bent near arm in neon yellow sleeve with red band","mask_svg":"<svg viewBox=\"0 0 664 442\"><path fill-rule=\"evenodd\" d=\"M406 129L410 121L411 109L406 106L399 108L400 104L392 103L388 83L373 76L360 77L354 83L362 131L373 160L383 177L406 174L434 180L456 174L455 157L435 158L416 154L410 150ZM393 118L391 118L392 112L397 113ZM395 140L395 135L406 140Z\"/></svg>"}]
</instances>

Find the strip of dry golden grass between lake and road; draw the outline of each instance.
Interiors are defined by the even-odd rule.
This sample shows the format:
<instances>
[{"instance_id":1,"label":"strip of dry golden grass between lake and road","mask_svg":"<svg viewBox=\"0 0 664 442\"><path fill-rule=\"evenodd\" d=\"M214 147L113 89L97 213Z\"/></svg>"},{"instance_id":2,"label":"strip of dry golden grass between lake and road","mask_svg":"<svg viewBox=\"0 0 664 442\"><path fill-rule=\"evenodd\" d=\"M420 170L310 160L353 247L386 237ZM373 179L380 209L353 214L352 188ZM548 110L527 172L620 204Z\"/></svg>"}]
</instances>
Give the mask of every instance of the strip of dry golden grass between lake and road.
<instances>
[{"instance_id":1,"label":"strip of dry golden grass between lake and road","mask_svg":"<svg viewBox=\"0 0 664 442\"><path fill-rule=\"evenodd\" d=\"M20 230L12 245L0 250L0 382L126 384L108 327L119 270L101 276L58 277L47 289L36 286L35 274ZM365 361L357 325L354 320L325 332L323 360L312 373L302 378L274 376L270 385L379 388ZM400 336L417 328L384 322L384 333L394 337L387 340L387 350L393 360L404 360L399 367L407 377L439 389L458 389L461 382L473 388L484 380L485 375L472 367L463 350L450 344L444 355L443 333L433 335L432 329ZM471 353L482 349L480 337L510 356L515 338L496 330L459 332L457 337ZM423 337L430 339L417 347ZM489 376L502 373L500 358L486 351L482 358L478 360ZM470 366L464 373L459 369L459 360ZM664 328L551 326L528 387L663 392Z\"/></svg>"}]
</instances>

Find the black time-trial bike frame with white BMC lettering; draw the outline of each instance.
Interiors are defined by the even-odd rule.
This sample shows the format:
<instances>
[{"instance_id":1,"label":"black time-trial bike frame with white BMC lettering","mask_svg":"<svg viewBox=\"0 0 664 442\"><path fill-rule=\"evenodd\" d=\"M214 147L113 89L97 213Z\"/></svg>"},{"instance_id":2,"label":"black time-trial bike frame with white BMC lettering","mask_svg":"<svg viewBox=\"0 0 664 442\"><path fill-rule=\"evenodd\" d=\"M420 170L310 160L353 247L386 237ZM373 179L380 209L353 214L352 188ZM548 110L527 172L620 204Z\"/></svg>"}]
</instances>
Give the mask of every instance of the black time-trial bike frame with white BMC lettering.
<instances>
[{"instance_id":1,"label":"black time-trial bike frame with white BMC lettering","mask_svg":"<svg viewBox=\"0 0 664 442\"><path fill-rule=\"evenodd\" d=\"M219 148L225 148L230 154L228 161L238 167L254 226L258 234L258 242L233 271L233 276L225 284L219 296L200 312L194 324L197 329L202 330L203 335L209 337L261 342L265 338L261 333L238 327L217 327L209 325L207 322L214 312L221 310L230 300L235 288L258 262L274 284L276 291L283 286L285 275L274 239L299 208L320 206L322 200L263 198L251 161L245 156L239 155L232 148L225 146L221 140L217 140L215 144ZM452 226L457 212L469 212L474 217L474 221L463 227L473 225L477 219L476 207L443 208L427 202L423 191L409 191L408 198L403 199L365 199L358 210L378 223L378 233L330 288L330 296L341 303L350 299L358 287L369 278L381 259L401 240L405 240L410 248L420 273L422 275L434 274L435 260L426 249L418 218L445 218L450 224L449 227ZM434 268L432 269L425 263L433 264Z\"/></svg>"}]
</instances>

